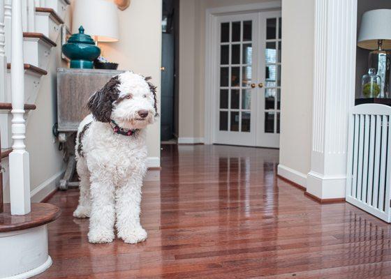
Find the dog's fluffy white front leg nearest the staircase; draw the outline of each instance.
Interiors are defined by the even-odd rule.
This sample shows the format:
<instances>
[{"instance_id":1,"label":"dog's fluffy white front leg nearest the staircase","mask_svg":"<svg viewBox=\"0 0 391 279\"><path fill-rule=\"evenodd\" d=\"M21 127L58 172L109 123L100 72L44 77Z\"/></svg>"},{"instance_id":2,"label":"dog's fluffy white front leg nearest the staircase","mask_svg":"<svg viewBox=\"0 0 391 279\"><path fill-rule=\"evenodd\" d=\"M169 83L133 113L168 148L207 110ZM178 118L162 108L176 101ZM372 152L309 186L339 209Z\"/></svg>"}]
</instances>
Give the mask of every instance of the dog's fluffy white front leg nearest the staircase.
<instances>
[{"instance_id":1,"label":"dog's fluffy white front leg nearest the staircase","mask_svg":"<svg viewBox=\"0 0 391 279\"><path fill-rule=\"evenodd\" d=\"M111 242L115 223L115 186L110 172L97 168L91 172L91 216L88 240L91 243Z\"/></svg>"}]
</instances>

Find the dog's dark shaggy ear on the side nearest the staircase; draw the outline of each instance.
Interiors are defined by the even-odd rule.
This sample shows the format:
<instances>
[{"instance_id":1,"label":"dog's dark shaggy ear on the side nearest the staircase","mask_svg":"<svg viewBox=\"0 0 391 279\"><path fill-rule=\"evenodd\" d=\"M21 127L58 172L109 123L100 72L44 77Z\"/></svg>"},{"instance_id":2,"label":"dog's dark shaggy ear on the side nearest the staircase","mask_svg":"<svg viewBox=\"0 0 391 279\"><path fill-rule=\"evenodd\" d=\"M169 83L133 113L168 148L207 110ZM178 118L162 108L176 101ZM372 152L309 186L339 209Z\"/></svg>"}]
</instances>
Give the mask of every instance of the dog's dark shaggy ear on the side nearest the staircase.
<instances>
[{"instance_id":1,"label":"dog's dark shaggy ear on the side nearest the staircase","mask_svg":"<svg viewBox=\"0 0 391 279\"><path fill-rule=\"evenodd\" d=\"M116 75L89 98L87 107L96 121L110 122L112 103L118 99L118 84L119 77Z\"/></svg>"}]
</instances>

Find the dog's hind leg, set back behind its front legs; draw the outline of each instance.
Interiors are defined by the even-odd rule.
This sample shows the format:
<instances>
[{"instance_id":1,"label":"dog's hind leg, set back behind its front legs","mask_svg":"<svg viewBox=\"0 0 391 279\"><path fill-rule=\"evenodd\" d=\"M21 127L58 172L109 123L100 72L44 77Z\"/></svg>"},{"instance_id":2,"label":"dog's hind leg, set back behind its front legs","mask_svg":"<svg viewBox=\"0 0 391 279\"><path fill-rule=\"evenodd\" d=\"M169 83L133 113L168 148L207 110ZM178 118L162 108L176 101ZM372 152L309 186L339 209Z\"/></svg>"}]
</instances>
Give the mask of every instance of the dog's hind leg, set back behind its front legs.
<instances>
[{"instance_id":1,"label":"dog's hind leg, set back behind its front legs","mask_svg":"<svg viewBox=\"0 0 391 279\"><path fill-rule=\"evenodd\" d=\"M73 216L76 218L88 218L91 213L91 197L89 194L89 170L84 158L78 158L77 169L80 178L80 197L78 208L73 211Z\"/></svg>"}]
</instances>

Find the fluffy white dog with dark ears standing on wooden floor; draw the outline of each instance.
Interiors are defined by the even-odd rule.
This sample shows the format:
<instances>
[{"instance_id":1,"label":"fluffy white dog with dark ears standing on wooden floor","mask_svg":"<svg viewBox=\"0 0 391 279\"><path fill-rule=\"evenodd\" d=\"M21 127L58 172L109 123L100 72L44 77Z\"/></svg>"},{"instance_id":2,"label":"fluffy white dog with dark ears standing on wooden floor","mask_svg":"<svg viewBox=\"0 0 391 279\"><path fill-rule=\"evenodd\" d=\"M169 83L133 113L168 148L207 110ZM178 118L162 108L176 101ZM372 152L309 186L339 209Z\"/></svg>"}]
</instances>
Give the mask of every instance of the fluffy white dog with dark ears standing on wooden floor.
<instances>
[{"instance_id":1,"label":"fluffy white dog with dark ears standing on wooden floor","mask_svg":"<svg viewBox=\"0 0 391 279\"><path fill-rule=\"evenodd\" d=\"M90 218L88 239L107 243L117 236L126 243L147 239L140 225L142 179L147 171L145 128L156 112L156 87L132 72L105 84L89 98L91 111L76 139L80 199L73 212Z\"/></svg>"}]
</instances>

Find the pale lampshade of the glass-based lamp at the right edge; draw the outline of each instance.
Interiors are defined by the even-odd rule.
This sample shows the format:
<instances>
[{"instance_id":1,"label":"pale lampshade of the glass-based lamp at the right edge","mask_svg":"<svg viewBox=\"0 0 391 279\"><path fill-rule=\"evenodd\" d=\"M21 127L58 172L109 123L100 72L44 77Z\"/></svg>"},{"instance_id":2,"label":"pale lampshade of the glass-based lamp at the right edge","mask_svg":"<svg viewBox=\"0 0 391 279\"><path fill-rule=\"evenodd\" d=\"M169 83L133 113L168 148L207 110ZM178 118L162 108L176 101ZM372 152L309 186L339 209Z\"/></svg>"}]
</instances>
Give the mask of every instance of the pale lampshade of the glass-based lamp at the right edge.
<instances>
[{"instance_id":1,"label":"pale lampshade of the glass-based lamp at the right edge","mask_svg":"<svg viewBox=\"0 0 391 279\"><path fill-rule=\"evenodd\" d=\"M391 10L369 10L362 15L357 45L377 50L378 40L383 40L384 50L391 49Z\"/></svg>"}]
</instances>

